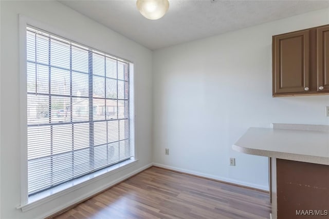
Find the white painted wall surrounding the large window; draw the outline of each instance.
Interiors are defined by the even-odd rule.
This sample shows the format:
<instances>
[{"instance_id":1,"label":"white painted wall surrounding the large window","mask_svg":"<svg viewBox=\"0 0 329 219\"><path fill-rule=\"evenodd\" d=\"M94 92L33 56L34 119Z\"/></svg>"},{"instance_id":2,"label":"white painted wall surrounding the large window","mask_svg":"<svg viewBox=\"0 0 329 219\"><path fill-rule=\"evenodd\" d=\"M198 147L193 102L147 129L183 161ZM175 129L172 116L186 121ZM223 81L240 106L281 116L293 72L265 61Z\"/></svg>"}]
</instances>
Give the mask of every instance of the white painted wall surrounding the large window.
<instances>
[{"instance_id":1,"label":"white painted wall surrounding the large window","mask_svg":"<svg viewBox=\"0 0 329 219\"><path fill-rule=\"evenodd\" d=\"M137 165L27 212L20 205L19 14L61 30L79 43L135 63ZM152 162L152 52L56 1L1 1L1 215L38 218Z\"/></svg>"}]
</instances>

